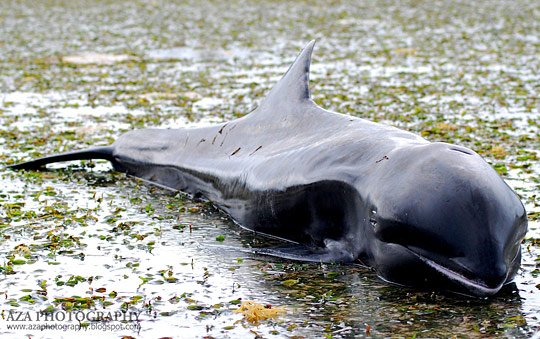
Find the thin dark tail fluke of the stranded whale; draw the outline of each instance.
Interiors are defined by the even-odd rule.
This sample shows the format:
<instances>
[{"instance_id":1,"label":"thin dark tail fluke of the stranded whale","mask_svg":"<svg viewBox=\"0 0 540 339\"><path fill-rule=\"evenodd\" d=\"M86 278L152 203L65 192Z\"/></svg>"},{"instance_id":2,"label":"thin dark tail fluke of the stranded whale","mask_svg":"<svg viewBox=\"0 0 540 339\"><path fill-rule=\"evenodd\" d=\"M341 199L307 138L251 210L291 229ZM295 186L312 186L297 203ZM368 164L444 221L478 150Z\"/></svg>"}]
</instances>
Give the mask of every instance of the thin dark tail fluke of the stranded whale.
<instances>
[{"instance_id":1,"label":"thin dark tail fluke of the stranded whale","mask_svg":"<svg viewBox=\"0 0 540 339\"><path fill-rule=\"evenodd\" d=\"M54 162L90 159L103 159L112 162L114 160L113 150L114 148L112 146L92 147L80 151L66 152L27 162L22 162L19 164L7 166L7 168L14 170L36 170Z\"/></svg>"}]
</instances>

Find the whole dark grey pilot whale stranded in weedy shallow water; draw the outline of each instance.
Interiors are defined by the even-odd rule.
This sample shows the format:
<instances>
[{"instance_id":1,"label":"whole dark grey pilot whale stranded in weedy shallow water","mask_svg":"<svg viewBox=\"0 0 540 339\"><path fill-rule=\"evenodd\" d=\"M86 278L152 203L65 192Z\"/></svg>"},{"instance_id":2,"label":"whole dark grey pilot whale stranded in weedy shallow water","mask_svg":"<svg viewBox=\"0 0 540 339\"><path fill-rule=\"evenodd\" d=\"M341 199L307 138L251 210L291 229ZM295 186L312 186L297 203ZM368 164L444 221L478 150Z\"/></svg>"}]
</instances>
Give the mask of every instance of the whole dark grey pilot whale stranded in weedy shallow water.
<instances>
[{"instance_id":1,"label":"whole dark grey pilot whale stranded in weedy shallow water","mask_svg":"<svg viewBox=\"0 0 540 339\"><path fill-rule=\"evenodd\" d=\"M470 296L520 267L526 212L474 151L329 112L310 98L310 42L253 112L210 127L143 129L107 147L17 165L106 159L203 197L239 225L288 240L283 258L360 262L382 279Z\"/></svg>"}]
</instances>

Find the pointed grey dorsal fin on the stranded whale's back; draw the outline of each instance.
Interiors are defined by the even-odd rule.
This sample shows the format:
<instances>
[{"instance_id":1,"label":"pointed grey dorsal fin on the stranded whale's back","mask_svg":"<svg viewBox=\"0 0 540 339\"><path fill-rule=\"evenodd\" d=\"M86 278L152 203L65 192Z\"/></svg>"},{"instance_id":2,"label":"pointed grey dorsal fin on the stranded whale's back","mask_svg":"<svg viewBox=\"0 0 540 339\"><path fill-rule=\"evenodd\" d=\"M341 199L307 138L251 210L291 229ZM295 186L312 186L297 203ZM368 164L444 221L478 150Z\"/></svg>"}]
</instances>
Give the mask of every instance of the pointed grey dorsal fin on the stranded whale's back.
<instances>
[{"instance_id":1,"label":"pointed grey dorsal fin on the stranded whale's back","mask_svg":"<svg viewBox=\"0 0 540 339\"><path fill-rule=\"evenodd\" d=\"M295 104L311 102L309 93L309 66L315 40L310 41L296 57L281 80L270 90L259 109L287 110Z\"/></svg>"}]
</instances>

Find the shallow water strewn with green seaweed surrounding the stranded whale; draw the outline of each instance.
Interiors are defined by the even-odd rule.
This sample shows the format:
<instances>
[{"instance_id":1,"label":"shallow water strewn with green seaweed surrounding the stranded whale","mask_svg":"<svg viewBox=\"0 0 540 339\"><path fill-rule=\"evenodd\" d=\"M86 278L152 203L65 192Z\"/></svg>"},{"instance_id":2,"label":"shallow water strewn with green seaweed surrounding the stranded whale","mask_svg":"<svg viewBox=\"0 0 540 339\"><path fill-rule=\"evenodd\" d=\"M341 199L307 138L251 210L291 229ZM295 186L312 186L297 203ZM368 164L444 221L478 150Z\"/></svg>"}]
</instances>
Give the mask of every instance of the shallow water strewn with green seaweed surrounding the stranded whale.
<instances>
[{"instance_id":1,"label":"shallow water strewn with green seaweed surrounding the stranded whale","mask_svg":"<svg viewBox=\"0 0 540 339\"><path fill-rule=\"evenodd\" d=\"M136 330L83 326L77 334L87 337L534 335L539 14L532 1L3 1L2 164L107 145L135 128L240 116L318 38L317 103L474 149L522 197L530 217L515 288L476 300L395 287L363 267L253 255L245 248L275 241L105 163L2 170L4 316L140 313ZM241 300L287 313L256 326L233 312ZM73 335L5 325L4 335Z\"/></svg>"}]
</instances>

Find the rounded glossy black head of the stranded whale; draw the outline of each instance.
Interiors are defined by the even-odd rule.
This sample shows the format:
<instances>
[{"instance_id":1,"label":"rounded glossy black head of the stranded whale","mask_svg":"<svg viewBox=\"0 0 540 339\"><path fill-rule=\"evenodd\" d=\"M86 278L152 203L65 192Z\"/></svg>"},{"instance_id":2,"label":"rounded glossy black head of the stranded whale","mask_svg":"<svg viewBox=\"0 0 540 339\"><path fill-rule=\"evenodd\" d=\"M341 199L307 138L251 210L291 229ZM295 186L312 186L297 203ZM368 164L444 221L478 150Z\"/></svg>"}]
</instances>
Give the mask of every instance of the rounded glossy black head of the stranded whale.
<instances>
[{"instance_id":1,"label":"rounded glossy black head of the stranded whale","mask_svg":"<svg viewBox=\"0 0 540 339\"><path fill-rule=\"evenodd\" d=\"M369 260L381 278L480 297L512 281L527 217L489 164L445 143L398 149L386 163L370 196Z\"/></svg>"}]
</instances>

